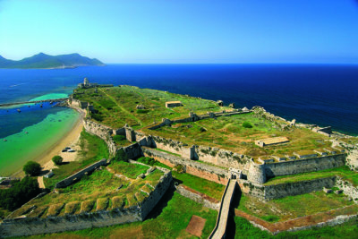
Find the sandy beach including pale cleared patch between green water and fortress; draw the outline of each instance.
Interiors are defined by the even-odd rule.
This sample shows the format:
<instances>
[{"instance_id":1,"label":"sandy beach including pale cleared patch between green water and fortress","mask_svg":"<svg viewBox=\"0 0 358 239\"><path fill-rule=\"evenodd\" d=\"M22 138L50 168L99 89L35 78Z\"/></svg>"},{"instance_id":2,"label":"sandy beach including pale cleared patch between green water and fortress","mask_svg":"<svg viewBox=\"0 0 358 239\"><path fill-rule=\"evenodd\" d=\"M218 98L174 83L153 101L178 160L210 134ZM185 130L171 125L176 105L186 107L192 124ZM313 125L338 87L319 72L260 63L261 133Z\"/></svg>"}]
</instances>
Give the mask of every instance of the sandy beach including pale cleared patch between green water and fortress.
<instances>
[{"instance_id":1,"label":"sandy beach including pale cleared patch between green water and fortress","mask_svg":"<svg viewBox=\"0 0 358 239\"><path fill-rule=\"evenodd\" d=\"M84 112L79 110L77 111L80 113L80 117L77 120L76 124L73 125L72 130L66 133L61 139L58 139L55 144L53 144L49 149L44 151L37 158L30 159L38 162L43 167L43 170L50 170L55 167L54 163L52 162L52 158L55 155L59 155L64 158L64 162L70 162L77 159L77 152L80 149L78 142L80 140L81 131L83 128L82 119L84 117ZM62 152L62 149L64 149L65 147L71 147L72 149L75 149L75 152ZM24 176L24 173L22 170L19 170L12 176L22 177Z\"/></svg>"}]
</instances>

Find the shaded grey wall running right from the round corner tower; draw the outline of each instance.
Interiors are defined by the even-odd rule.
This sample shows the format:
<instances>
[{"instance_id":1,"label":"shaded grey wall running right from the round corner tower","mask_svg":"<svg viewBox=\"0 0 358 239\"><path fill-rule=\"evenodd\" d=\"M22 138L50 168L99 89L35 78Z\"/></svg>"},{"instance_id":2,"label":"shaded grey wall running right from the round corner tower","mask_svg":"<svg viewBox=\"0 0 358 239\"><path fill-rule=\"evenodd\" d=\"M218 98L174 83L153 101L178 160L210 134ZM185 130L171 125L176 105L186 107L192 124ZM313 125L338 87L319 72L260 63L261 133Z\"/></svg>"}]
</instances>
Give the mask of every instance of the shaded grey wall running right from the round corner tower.
<instances>
[{"instance_id":1,"label":"shaded grey wall running right from the round corner tower","mask_svg":"<svg viewBox=\"0 0 358 239\"><path fill-rule=\"evenodd\" d=\"M345 154L290 160L265 165L267 177L296 175L345 165Z\"/></svg>"}]
</instances>

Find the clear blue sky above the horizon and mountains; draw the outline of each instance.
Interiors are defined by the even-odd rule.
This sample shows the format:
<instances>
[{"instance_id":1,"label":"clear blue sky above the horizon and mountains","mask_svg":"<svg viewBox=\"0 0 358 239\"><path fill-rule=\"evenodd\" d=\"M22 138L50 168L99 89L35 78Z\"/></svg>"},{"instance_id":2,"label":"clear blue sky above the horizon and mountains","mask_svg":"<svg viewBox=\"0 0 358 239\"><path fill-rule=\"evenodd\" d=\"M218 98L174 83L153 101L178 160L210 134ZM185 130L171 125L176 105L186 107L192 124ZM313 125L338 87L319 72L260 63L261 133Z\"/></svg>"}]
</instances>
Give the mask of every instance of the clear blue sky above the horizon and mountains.
<instances>
[{"instance_id":1,"label":"clear blue sky above the horizon and mountains","mask_svg":"<svg viewBox=\"0 0 358 239\"><path fill-rule=\"evenodd\" d=\"M358 0L0 0L0 55L358 63Z\"/></svg>"}]
</instances>

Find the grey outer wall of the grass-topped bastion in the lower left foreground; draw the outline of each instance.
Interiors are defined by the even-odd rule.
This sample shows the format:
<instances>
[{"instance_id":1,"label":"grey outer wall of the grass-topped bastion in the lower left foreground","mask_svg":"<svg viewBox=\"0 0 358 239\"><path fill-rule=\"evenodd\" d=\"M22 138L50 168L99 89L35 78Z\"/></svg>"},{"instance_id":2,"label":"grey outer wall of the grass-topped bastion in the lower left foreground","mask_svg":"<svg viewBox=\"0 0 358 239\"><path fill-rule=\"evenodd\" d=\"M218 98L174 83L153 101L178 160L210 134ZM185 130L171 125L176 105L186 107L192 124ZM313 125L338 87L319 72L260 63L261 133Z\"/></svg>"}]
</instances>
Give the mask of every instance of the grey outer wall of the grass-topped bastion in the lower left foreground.
<instances>
[{"instance_id":1,"label":"grey outer wall of the grass-topped bastion in the lower left foreground","mask_svg":"<svg viewBox=\"0 0 358 239\"><path fill-rule=\"evenodd\" d=\"M102 210L92 213L81 212L77 215L65 215L63 217L5 218L0 224L0 237L59 233L143 221L172 185L172 181L171 172L166 172L160 178L159 184L144 201L126 209ZM30 203L31 201L23 206L30 205Z\"/></svg>"}]
</instances>

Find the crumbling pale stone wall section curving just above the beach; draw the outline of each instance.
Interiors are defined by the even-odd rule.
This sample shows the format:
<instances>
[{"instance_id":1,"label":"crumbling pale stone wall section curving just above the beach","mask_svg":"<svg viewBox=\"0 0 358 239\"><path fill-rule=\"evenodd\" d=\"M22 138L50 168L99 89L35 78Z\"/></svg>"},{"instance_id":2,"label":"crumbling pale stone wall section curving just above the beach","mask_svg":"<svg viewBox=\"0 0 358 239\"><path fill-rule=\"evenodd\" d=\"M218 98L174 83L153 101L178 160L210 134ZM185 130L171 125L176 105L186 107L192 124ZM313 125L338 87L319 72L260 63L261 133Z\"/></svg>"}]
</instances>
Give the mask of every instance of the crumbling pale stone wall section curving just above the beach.
<instances>
[{"instance_id":1,"label":"crumbling pale stone wall section curving just above the beach","mask_svg":"<svg viewBox=\"0 0 358 239\"><path fill-rule=\"evenodd\" d=\"M87 119L83 120L83 126L84 126L86 132L90 132L91 134L97 135L99 138L101 138L103 141L105 141L107 143L109 155L111 157L115 156L117 147L115 146L115 141L113 141L113 139L112 139L111 134L112 134L113 130L110 127L95 123L95 122L93 122L91 120L87 120Z\"/></svg>"}]
</instances>

